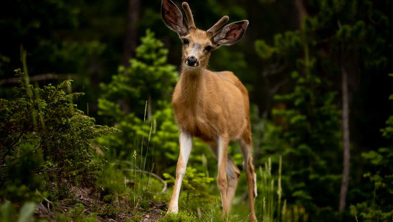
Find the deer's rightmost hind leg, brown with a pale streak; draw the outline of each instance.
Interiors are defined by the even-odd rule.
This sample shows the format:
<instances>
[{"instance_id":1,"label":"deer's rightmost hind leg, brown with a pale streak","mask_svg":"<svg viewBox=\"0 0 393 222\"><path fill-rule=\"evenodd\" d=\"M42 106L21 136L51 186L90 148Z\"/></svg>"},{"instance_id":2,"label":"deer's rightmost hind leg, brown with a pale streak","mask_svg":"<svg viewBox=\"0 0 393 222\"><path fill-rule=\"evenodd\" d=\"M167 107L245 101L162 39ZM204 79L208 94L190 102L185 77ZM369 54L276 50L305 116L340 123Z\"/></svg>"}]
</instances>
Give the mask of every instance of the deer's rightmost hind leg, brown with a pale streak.
<instances>
[{"instance_id":1,"label":"deer's rightmost hind leg, brown with a pale streak","mask_svg":"<svg viewBox=\"0 0 393 222\"><path fill-rule=\"evenodd\" d=\"M240 148L243 153L243 168L246 172L246 180L248 185L249 194L249 205L250 205L250 221L256 222L256 216L254 211L254 201L256 197L256 174L253 166L253 156L252 156L252 139L250 131L246 132L241 139L239 139Z\"/></svg>"}]
</instances>

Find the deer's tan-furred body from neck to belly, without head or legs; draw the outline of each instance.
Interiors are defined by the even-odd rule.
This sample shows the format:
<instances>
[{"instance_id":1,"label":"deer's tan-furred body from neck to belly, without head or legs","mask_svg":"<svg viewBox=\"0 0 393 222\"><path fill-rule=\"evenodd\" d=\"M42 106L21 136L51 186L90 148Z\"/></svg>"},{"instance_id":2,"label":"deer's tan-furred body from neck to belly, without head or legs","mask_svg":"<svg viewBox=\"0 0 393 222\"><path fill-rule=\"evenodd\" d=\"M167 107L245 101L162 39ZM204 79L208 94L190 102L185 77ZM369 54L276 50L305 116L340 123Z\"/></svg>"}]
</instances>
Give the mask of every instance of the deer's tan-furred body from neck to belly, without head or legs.
<instances>
[{"instance_id":1,"label":"deer's tan-furred body from neck to belly, without head or legs","mask_svg":"<svg viewBox=\"0 0 393 222\"><path fill-rule=\"evenodd\" d=\"M232 72L183 71L172 105L180 130L206 142L216 141L218 135L236 140L244 131L251 133L246 130L250 126L248 93Z\"/></svg>"}]
</instances>

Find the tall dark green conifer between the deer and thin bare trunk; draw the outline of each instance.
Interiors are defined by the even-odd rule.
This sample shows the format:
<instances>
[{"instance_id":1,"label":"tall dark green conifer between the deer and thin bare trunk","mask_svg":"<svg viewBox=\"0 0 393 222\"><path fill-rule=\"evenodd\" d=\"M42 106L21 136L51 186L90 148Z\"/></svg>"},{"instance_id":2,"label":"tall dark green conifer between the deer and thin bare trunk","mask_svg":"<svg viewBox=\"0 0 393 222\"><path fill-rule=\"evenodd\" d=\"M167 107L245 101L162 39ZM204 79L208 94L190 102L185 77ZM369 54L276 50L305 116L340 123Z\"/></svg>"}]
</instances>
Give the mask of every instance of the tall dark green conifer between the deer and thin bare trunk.
<instances>
[{"instance_id":1,"label":"tall dark green conifer between the deer and thin bare trunk","mask_svg":"<svg viewBox=\"0 0 393 222\"><path fill-rule=\"evenodd\" d=\"M298 42L288 44L291 46ZM330 202L338 199L337 191L332 188L339 185L340 168L328 163L335 162L335 153L340 151L340 135L337 132L340 128L340 112L334 103L336 92L329 91L330 83L315 74L315 59L307 57L309 43L302 44L306 57L291 65L302 70L291 73L292 81L296 83L293 91L275 96L276 100L287 103L289 107L273 111L276 118L283 120L281 138L286 144L283 147L276 146L276 150L284 154L283 170L289 177L283 178L283 194L288 202L291 201L290 197L295 198L295 203L305 206L307 212L319 214L315 212L318 205L322 207L327 199ZM291 52L289 46L287 50ZM282 44L275 47L286 55L286 50L279 50ZM270 142L267 145L270 146ZM317 192L321 186L330 189L323 193Z\"/></svg>"}]
</instances>

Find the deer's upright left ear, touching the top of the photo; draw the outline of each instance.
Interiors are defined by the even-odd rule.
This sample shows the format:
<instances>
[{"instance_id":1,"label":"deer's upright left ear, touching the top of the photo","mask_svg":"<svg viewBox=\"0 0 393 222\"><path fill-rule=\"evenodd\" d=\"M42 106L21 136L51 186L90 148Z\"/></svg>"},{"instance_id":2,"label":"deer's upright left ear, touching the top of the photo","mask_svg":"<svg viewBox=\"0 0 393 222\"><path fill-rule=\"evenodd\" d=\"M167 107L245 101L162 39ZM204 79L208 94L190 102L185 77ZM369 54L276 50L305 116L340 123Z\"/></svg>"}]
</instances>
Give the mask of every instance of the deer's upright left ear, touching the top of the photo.
<instances>
[{"instance_id":1,"label":"deer's upright left ear, touching the top of the photo","mask_svg":"<svg viewBox=\"0 0 393 222\"><path fill-rule=\"evenodd\" d=\"M185 34L188 31L186 21L180 9L171 0L162 0L161 16L168 28L179 34Z\"/></svg>"}]
</instances>

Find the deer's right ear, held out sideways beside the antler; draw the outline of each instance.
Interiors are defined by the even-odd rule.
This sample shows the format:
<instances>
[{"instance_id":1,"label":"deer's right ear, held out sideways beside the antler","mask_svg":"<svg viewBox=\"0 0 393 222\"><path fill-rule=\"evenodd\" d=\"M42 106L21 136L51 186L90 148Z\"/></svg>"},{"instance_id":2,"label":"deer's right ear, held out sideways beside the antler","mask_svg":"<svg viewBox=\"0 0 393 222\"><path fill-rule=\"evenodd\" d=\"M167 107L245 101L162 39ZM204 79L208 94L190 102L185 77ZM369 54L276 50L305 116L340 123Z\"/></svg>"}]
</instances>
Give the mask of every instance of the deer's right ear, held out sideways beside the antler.
<instances>
[{"instance_id":1,"label":"deer's right ear, held out sideways beside the antler","mask_svg":"<svg viewBox=\"0 0 393 222\"><path fill-rule=\"evenodd\" d=\"M246 31L249 21L243 20L240 22L231 23L225 26L220 32L213 37L213 42L220 45L230 46L239 41Z\"/></svg>"}]
</instances>

